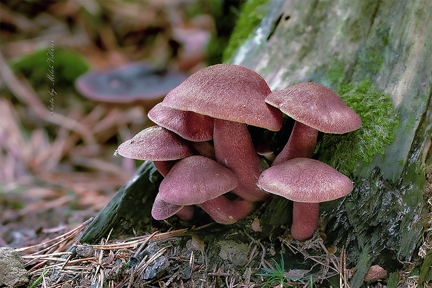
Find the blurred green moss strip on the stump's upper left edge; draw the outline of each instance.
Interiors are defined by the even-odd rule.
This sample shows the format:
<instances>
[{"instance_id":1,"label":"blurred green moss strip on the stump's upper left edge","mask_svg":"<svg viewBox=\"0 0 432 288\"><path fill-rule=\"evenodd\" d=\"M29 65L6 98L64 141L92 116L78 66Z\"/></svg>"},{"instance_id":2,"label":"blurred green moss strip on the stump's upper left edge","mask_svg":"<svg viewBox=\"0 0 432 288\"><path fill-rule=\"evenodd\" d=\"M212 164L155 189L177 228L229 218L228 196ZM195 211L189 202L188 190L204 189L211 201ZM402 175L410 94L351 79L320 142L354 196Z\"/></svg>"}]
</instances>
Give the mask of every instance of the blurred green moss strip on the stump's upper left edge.
<instances>
[{"instance_id":1,"label":"blurred green moss strip on the stump's upper left edge","mask_svg":"<svg viewBox=\"0 0 432 288\"><path fill-rule=\"evenodd\" d=\"M268 0L248 0L243 4L240 17L224 50L223 62L229 61L238 47L252 37L256 26L261 23L268 12L267 3Z\"/></svg>"}]
</instances>

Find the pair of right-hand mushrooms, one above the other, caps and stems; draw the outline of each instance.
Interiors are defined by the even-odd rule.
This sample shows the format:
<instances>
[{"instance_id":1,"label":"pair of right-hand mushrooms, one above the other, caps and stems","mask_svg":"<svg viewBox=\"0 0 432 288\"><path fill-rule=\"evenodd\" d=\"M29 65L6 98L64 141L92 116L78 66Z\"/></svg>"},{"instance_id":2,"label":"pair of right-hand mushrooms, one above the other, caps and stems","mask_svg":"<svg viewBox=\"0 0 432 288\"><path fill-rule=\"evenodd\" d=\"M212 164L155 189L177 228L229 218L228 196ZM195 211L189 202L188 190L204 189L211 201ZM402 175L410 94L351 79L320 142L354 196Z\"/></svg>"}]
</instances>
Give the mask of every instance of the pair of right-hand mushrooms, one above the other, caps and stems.
<instances>
[{"instance_id":1,"label":"pair of right-hand mushrooms, one above the other, caps and stems","mask_svg":"<svg viewBox=\"0 0 432 288\"><path fill-rule=\"evenodd\" d=\"M319 203L344 197L353 190L350 179L333 167L312 160L318 131L343 134L357 130L362 120L337 93L314 82L274 91L265 103L295 120L284 149L259 178L263 190L293 201L291 235L304 241L318 228Z\"/></svg>"}]
</instances>

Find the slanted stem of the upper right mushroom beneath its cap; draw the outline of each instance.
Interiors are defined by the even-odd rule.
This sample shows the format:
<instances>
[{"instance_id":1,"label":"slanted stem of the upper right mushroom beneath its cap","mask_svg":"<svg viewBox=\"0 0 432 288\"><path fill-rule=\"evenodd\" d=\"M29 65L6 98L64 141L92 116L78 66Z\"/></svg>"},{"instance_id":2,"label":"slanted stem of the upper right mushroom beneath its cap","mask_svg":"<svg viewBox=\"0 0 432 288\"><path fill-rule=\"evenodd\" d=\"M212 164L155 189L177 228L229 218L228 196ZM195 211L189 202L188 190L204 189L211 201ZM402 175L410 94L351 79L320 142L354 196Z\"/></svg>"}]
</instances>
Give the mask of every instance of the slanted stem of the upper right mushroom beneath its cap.
<instances>
[{"instance_id":1,"label":"slanted stem of the upper right mushroom beneath its cap","mask_svg":"<svg viewBox=\"0 0 432 288\"><path fill-rule=\"evenodd\" d=\"M284 149L276 156L272 166L293 158L312 158L314 156L318 130L295 121L293 131Z\"/></svg>"}]
</instances>

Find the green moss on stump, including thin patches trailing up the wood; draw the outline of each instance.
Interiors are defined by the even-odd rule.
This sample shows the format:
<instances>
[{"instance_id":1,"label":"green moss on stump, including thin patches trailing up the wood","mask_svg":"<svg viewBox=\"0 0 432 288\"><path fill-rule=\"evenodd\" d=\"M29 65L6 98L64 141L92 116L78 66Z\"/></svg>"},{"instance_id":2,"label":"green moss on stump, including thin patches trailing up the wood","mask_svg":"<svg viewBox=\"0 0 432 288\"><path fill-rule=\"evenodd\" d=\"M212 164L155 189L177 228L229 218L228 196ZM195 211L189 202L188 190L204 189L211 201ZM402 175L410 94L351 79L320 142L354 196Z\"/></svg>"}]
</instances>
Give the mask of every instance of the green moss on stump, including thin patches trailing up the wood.
<instances>
[{"instance_id":1,"label":"green moss on stump, including thin patches trailing up the wood","mask_svg":"<svg viewBox=\"0 0 432 288\"><path fill-rule=\"evenodd\" d=\"M380 29L376 41L357 52L362 81L353 84L346 78L344 64L336 59L332 66L316 79L335 89L342 100L360 115L363 125L359 130L344 135L323 135L317 145L318 159L336 167L344 174L355 171L360 162L371 162L376 154L384 154L384 146L393 142L399 116L390 97L378 90L369 77L375 77L383 66L383 50L389 42L389 30ZM349 84L342 84L348 83Z\"/></svg>"}]
</instances>

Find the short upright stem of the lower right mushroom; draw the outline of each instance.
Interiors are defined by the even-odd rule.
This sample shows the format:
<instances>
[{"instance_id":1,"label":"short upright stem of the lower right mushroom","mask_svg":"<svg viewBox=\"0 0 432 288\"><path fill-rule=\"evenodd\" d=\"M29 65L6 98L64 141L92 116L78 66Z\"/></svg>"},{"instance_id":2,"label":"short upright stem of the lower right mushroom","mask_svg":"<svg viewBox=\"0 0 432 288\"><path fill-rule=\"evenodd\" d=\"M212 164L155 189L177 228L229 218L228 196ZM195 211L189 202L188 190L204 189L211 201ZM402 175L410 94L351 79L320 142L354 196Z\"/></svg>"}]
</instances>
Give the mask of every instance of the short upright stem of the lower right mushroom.
<instances>
[{"instance_id":1,"label":"short upright stem of the lower right mushroom","mask_svg":"<svg viewBox=\"0 0 432 288\"><path fill-rule=\"evenodd\" d=\"M291 235L298 241L311 238L318 228L319 203L294 202Z\"/></svg>"}]
</instances>

